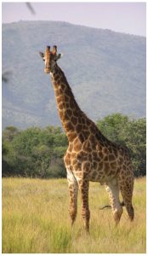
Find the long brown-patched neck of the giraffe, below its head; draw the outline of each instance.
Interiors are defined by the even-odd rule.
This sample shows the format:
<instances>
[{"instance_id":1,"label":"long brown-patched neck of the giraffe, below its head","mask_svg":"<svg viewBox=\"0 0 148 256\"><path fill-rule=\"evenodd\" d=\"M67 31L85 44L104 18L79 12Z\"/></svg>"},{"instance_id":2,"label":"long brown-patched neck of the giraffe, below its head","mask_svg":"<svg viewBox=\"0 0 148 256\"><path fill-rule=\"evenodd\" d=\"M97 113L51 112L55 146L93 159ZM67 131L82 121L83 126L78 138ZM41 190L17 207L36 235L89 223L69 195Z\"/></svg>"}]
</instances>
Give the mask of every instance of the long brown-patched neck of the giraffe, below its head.
<instances>
[{"instance_id":1,"label":"long brown-patched neck of the giraffe, below its head","mask_svg":"<svg viewBox=\"0 0 148 256\"><path fill-rule=\"evenodd\" d=\"M65 129L66 136L71 141L77 137L77 129L80 128L78 125L82 122L85 114L79 108L65 74L58 65L51 73L51 79L61 123Z\"/></svg>"}]
</instances>

